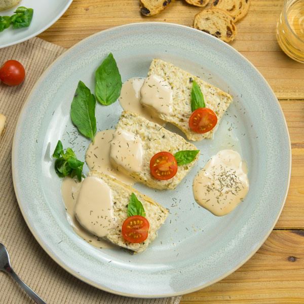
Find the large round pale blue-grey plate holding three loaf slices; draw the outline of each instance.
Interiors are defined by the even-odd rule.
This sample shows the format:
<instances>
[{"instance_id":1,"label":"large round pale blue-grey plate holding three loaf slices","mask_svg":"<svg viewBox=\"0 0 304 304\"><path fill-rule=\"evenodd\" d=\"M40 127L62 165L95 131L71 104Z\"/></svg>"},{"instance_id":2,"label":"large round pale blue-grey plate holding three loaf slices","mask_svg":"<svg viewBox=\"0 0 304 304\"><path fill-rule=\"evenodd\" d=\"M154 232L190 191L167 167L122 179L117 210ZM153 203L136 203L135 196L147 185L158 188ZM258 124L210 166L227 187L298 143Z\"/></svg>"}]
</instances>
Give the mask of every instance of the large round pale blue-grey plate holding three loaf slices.
<instances>
[{"instance_id":1,"label":"large round pale blue-grey plate holding three loaf slices","mask_svg":"<svg viewBox=\"0 0 304 304\"><path fill-rule=\"evenodd\" d=\"M170 210L149 248L97 249L66 220L61 178L52 154L58 139L84 160L89 140L72 125L70 104L79 80L94 92L94 74L112 53L122 80L145 77L153 58L171 61L231 93L212 140L195 144L198 163L174 191L135 187ZM119 102L96 106L98 130L115 128ZM171 131L181 134L173 126ZM182 135L182 134L181 134ZM239 151L247 161L250 189L230 214L216 217L193 198L192 181L218 150ZM12 168L22 214L37 241L64 269L100 289L129 296L172 296L206 287L248 260L271 233L284 205L290 177L290 141L273 91L242 55L213 36L168 23L111 28L61 55L31 91L16 128ZM85 173L88 168L85 168Z\"/></svg>"}]
</instances>

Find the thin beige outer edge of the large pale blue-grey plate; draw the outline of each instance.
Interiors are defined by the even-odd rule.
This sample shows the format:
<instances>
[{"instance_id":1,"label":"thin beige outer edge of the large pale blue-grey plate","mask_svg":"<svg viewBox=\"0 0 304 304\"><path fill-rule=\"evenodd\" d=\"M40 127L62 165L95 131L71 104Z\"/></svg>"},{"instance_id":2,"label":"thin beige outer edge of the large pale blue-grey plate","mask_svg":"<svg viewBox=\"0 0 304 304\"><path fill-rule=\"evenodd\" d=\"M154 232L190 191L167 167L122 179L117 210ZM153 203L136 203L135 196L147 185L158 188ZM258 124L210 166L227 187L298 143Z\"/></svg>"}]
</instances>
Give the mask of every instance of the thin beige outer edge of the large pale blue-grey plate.
<instances>
[{"instance_id":1,"label":"thin beige outer edge of the large pale blue-grey plate","mask_svg":"<svg viewBox=\"0 0 304 304\"><path fill-rule=\"evenodd\" d=\"M72 2L72 0L70 0L70 2ZM18 194L17 194L17 185L16 185L16 181L15 181L15 172L14 172L14 155L15 155L15 146L16 146L16 130L18 129L19 127L19 123L20 123L20 120L21 120L21 116L24 112L24 109L25 109L25 106L26 104L28 103L28 100L29 100L29 97L31 96L32 92L35 90L37 84L39 83L39 81L44 77L44 75L49 71L49 69L58 61L61 59L61 57L63 57L67 51L77 47L79 44L82 44L84 43L87 39L91 39L92 36L95 36L95 35L99 35L103 32L108 32L108 31L115 31L116 29L119 29L119 28L122 28L122 27L132 27L132 26L138 26L139 24L145 24L145 25L169 25L169 26L174 26L174 27L181 27L181 28L184 28L186 30L190 30L190 31L196 31L196 32L200 32L201 34L203 35L208 35L210 36L209 34L205 33L205 32L201 32L200 30L198 29L195 29L195 28L192 28L192 27L189 27L189 26L186 26L186 25L181 25L181 24L176 24L176 23L169 23L169 22L135 22L135 23L128 23L128 24L123 24L123 25L119 25L119 26L115 26L115 27L111 27L111 28L108 28L108 29L105 29L105 30L102 30L102 31L98 31L94 34L91 34L87 37L85 37L85 39L79 41L78 43L74 44L72 47L70 47L69 49L67 49L65 52L63 52L61 55L59 55L45 70L44 72L40 75L39 79L37 79L36 83L33 85L32 89L30 90L21 110L20 110L20 114L19 114L19 117L18 117L18 120L17 120L17 123L16 123L16 127L15 127L15 132L14 132L14 138L13 138L13 144L12 144L12 178L13 178L13 185L14 185L14 191L15 191L15 195L16 195L16 199L17 199L17 202L18 202L18 205L19 205L19 208L20 208L20 211L22 213L22 216L31 232L31 234L34 236L34 238L36 239L36 241L39 243L39 245L44 249L44 251L58 264L60 265L60 267L62 267L65 271L67 271L69 274L73 275L74 277L78 278L79 280L93 286L93 287L96 287L100 290L103 290L103 291L106 291L106 292L110 292L112 294L116 294L116 295L122 295L122 296L128 296L128 297L136 297L136 298L164 298L164 297L172 297L172 296L181 296L181 295L184 295L184 294L188 294L188 293L191 293L191 292L195 292L195 291L198 291L198 290L201 290L205 287L208 287L216 282L219 282L221 281L222 279L224 279L225 277L229 276L230 274L232 274L233 272L235 272L237 269L239 269L245 262L247 262L256 252L257 250L262 246L262 244L267 240L267 238L270 236L271 232L273 231L280 215L281 215L281 212L283 210L283 207L285 205L285 202L286 202L286 198L287 198L287 195L288 195L288 191L289 191L289 185L290 185L290 177L291 177L291 158L292 158L292 154L291 154L291 142L290 142L290 135L289 135L289 131L288 131L288 127L287 127L287 123L286 123L286 119L285 119L285 116L284 116L284 112L282 110L282 107L278 101L278 98L276 97L274 91L272 90L271 86L269 85L269 83L265 80L265 78L263 77L263 75L260 73L260 71L246 58L244 57L244 55L242 55L239 51L237 51L235 48L233 48L231 45L229 44L226 44L224 43L223 41L221 40L218 40L216 37L212 37L212 39L215 39L218 41L218 43L222 43L223 45L225 45L226 47L230 48L233 52L237 53L239 56L242 57L243 60L245 60L247 62L247 64L249 64L251 66L251 68L253 68L255 70L255 72L261 77L261 79L264 81L264 83L267 85L267 87L269 88L269 91L272 93L272 95L275 97L276 101L277 101L277 105L278 105L278 108L280 109L281 111L281 114L282 114L282 118L283 118L283 122L284 122L284 129L286 131L286 135L287 135L287 140L288 140L288 152L289 152L289 163L288 163L288 178L287 178L287 183L286 183L286 191L285 191L285 195L284 195L284 198L281 202L281 206L280 206L280 209L279 209L279 212L275 218L275 221L273 222L273 224L271 225L269 231L265 234L265 236L263 237L263 239L258 243L258 245L252 250L252 252L245 258L243 259L242 261L240 261L233 269L231 269L230 271L226 272L225 274L221 275L220 277L210 281L210 282L207 282L203 285L200 285L200 286L197 286L197 287L194 287L194 288L191 288L191 289L187 289L185 291L180 291L180 292L174 292L174 293L168 293L168 294L162 294L162 295L158 295L158 294L153 294L153 295L142 295L142 294L133 294L133 293L125 293L125 292L120 292L120 291L117 291L117 290L112 290L110 288L107 288L105 286L100 286L99 284L95 283L95 282L92 282L88 279L85 279L83 278L81 275L79 275L77 272L74 272L72 271L70 268L68 268L64 263L61 263L51 252L48 251L48 249L46 248L46 246L44 245L44 242L42 239L40 239L33 231L33 227L30 225L29 223L29 220L28 218L26 217L25 213L24 213L24 210L22 208L22 205L21 205L21 202L20 202L20 199L18 197Z\"/></svg>"}]
</instances>

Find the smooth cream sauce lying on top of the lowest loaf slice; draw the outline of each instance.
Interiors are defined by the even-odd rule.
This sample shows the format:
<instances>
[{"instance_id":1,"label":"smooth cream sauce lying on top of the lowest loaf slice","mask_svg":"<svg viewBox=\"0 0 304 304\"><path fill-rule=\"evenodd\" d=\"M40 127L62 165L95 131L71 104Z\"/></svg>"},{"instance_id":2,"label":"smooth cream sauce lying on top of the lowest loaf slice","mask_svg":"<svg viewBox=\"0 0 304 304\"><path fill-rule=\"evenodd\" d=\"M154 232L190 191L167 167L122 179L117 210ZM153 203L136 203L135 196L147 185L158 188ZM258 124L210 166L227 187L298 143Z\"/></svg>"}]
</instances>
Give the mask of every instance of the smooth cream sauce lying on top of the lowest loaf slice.
<instances>
[{"instance_id":1,"label":"smooth cream sauce lying on top of the lowest loaf slice","mask_svg":"<svg viewBox=\"0 0 304 304\"><path fill-rule=\"evenodd\" d=\"M75 217L89 232L104 237L116 227L110 187L101 179L87 176L74 208Z\"/></svg>"}]
</instances>

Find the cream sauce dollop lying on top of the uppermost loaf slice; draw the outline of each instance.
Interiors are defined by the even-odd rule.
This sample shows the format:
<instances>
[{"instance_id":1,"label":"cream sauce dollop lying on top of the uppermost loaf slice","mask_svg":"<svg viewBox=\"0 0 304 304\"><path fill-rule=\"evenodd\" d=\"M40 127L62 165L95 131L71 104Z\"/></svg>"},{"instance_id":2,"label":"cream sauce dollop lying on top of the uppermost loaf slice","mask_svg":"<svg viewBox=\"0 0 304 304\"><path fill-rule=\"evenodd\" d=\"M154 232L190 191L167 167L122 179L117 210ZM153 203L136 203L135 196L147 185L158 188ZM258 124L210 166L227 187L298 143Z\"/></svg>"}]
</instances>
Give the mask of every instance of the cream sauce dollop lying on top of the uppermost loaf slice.
<instances>
[{"instance_id":1,"label":"cream sauce dollop lying on top of the uppermost loaf slice","mask_svg":"<svg viewBox=\"0 0 304 304\"><path fill-rule=\"evenodd\" d=\"M147 77L140 89L140 102L159 113L171 112L173 95L170 84L158 75Z\"/></svg>"}]
</instances>

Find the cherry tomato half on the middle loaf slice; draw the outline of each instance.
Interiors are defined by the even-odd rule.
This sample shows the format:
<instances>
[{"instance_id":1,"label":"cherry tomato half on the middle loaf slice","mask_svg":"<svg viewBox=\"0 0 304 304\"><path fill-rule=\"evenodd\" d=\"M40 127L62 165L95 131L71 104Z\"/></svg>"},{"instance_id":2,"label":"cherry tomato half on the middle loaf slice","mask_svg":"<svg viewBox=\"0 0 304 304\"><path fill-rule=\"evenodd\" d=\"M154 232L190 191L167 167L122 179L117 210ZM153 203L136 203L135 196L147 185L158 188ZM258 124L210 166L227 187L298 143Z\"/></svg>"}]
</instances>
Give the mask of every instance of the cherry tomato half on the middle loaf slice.
<instances>
[{"instance_id":1,"label":"cherry tomato half on the middle loaf slice","mask_svg":"<svg viewBox=\"0 0 304 304\"><path fill-rule=\"evenodd\" d=\"M177 172L175 157L169 152L159 152L150 160L151 174L157 179L170 179Z\"/></svg>"}]
</instances>

